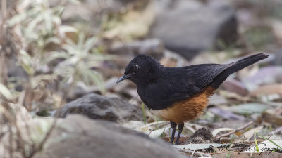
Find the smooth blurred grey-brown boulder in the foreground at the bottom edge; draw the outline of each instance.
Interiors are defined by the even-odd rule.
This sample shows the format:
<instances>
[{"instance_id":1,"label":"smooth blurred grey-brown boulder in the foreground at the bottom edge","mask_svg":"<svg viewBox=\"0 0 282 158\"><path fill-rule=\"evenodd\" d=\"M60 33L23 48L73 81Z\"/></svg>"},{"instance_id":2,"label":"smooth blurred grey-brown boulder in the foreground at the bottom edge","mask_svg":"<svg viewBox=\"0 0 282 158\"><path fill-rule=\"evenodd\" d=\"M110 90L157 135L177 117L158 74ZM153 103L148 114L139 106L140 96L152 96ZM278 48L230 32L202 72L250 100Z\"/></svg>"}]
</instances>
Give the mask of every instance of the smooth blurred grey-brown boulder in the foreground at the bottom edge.
<instances>
[{"instance_id":1,"label":"smooth blurred grey-brown boulder in the foreground at the bottom edge","mask_svg":"<svg viewBox=\"0 0 282 158\"><path fill-rule=\"evenodd\" d=\"M66 128L66 126L68 128ZM55 140L55 141L54 141ZM161 140L151 140L107 121L68 116L55 127L36 158L55 157L184 157Z\"/></svg>"}]
</instances>

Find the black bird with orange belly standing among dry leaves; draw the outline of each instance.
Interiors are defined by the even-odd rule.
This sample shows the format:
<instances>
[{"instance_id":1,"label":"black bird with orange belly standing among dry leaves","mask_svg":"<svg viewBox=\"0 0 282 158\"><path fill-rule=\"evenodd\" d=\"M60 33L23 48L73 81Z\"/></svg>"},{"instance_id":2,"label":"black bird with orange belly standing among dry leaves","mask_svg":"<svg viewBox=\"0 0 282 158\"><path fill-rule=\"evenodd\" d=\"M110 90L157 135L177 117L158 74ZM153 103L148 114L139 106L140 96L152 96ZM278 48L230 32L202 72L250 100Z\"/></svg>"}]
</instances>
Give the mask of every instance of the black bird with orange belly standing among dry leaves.
<instances>
[{"instance_id":1,"label":"black bird with orange belly standing among dry leaves","mask_svg":"<svg viewBox=\"0 0 282 158\"><path fill-rule=\"evenodd\" d=\"M198 64L185 67L164 67L150 55L137 55L116 81L128 79L137 85L137 93L149 110L171 123L171 143L176 126L178 145L184 122L199 117L209 104L209 97L226 78L243 68L268 58L257 53L229 64Z\"/></svg>"}]
</instances>

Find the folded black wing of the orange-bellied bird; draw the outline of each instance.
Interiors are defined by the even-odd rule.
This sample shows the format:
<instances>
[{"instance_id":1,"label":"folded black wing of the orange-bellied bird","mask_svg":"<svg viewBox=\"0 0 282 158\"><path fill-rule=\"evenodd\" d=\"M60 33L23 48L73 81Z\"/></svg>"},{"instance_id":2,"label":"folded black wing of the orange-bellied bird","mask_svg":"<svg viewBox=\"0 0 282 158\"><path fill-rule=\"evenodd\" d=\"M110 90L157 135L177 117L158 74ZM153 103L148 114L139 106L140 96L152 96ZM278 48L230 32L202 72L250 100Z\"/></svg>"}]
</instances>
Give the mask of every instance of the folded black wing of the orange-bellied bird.
<instances>
[{"instance_id":1,"label":"folded black wing of the orange-bellied bird","mask_svg":"<svg viewBox=\"0 0 282 158\"><path fill-rule=\"evenodd\" d=\"M231 65L202 64L180 68L168 68L163 83L162 104L166 107L188 98L209 86L216 77Z\"/></svg>"}]
</instances>

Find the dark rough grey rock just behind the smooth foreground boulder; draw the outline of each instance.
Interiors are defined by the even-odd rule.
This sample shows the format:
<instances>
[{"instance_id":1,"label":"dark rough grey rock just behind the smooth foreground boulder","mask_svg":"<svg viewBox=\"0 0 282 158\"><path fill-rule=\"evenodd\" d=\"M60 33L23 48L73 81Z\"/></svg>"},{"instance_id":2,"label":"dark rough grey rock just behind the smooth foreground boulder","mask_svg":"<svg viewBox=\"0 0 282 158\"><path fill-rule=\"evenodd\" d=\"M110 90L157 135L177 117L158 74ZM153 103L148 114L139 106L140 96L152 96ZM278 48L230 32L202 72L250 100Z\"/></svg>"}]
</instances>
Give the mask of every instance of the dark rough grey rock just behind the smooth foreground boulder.
<instances>
[{"instance_id":1,"label":"dark rough grey rock just behind the smooth foreground boulder","mask_svg":"<svg viewBox=\"0 0 282 158\"><path fill-rule=\"evenodd\" d=\"M142 110L137 105L94 93L67 103L56 112L59 117L66 117L68 114L84 114L91 119L115 122L142 120Z\"/></svg>"}]
</instances>

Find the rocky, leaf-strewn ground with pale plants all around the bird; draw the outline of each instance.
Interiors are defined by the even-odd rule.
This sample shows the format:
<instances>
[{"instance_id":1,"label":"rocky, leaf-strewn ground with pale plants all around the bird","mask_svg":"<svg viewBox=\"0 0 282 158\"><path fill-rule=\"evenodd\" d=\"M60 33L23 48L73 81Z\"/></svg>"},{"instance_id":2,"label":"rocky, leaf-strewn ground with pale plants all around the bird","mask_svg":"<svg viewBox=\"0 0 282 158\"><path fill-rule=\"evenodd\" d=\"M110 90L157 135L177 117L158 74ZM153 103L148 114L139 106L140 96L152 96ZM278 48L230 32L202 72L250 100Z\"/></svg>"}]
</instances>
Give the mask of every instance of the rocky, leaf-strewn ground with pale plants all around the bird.
<instances>
[{"instance_id":1,"label":"rocky, leaf-strewn ground with pale plants all around the bird","mask_svg":"<svg viewBox=\"0 0 282 158\"><path fill-rule=\"evenodd\" d=\"M37 2L1 3L0 157L281 157L281 1ZM257 52L270 56L228 77L180 145L116 84L142 53L181 67Z\"/></svg>"}]
</instances>

